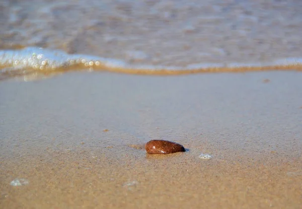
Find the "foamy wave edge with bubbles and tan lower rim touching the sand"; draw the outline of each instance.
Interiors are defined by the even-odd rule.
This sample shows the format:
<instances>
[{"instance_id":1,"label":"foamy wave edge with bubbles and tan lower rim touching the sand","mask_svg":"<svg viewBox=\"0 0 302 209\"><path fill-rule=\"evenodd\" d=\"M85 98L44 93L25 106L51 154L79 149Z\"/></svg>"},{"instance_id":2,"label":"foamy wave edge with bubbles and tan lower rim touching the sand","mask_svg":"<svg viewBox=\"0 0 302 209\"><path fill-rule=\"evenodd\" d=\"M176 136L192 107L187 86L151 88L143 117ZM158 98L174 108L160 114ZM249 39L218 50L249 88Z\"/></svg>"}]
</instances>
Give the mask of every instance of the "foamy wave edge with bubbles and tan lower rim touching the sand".
<instances>
[{"instance_id":1,"label":"foamy wave edge with bubbles and tan lower rim touching the sand","mask_svg":"<svg viewBox=\"0 0 302 209\"><path fill-rule=\"evenodd\" d=\"M88 69L126 74L181 75L193 73L248 72L268 70L302 70L301 58L285 58L262 63L197 63L185 67L134 65L123 60L84 54L67 54L61 50L27 47L0 50L0 80L42 74L53 76L67 71Z\"/></svg>"}]
</instances>

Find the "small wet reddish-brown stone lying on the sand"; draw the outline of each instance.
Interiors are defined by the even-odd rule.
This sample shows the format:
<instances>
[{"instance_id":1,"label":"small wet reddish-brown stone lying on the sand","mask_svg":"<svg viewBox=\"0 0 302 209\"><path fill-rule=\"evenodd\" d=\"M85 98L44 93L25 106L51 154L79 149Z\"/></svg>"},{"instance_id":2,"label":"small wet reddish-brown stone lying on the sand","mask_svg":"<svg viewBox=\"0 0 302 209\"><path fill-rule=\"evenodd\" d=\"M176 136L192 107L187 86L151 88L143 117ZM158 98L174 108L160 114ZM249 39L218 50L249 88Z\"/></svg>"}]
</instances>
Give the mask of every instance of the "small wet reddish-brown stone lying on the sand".
<instances>
[{"instance_id":1,"label":"small wet reddish-brown stone lying on the sand","mask_svg":"<svg viewBox=\"0 0 302 209\"><path fill-rule=\"evenodd\" d=\"M186 152L185 148L175 142L165 140L151 140L145 145L148 154L170 154Z\"/></svg>"}]
</instances>

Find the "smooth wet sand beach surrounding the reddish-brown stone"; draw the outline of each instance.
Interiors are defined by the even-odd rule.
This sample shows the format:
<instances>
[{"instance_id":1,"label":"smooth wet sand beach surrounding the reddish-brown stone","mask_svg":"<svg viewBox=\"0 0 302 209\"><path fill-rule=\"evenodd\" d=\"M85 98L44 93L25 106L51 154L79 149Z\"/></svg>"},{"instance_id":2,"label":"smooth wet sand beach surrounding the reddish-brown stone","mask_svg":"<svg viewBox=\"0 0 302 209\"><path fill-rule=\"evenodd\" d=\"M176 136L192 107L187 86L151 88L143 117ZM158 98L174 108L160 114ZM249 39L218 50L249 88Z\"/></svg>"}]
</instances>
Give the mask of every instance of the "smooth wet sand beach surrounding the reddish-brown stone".
<instances>
[{"instance_id":1,"label":"smooth wet sand beach surrounding the reddish-brown stone","mask_svg":"<svg viewBox=\"0 0 302 209\"><path fill-rule=\"evenodd\" d=\"M1 82L0 207L300 208L301 80L70 73ZM189 151L139 149L153 139ZM10 185L15 178L29 184Z\"/></svg>"}]
</instances>

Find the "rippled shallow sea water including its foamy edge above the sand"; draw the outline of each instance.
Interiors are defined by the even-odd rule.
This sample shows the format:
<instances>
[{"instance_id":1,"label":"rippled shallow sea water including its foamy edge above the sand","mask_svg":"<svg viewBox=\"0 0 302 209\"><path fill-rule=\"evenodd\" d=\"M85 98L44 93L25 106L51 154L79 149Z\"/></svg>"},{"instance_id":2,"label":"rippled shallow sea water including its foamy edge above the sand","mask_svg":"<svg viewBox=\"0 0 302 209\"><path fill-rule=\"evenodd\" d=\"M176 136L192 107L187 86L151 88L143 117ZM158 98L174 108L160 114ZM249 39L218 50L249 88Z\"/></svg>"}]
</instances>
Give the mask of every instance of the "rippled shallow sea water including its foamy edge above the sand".
<instances>
[{"instance_id":1,"label":"rippled shallow sea water including its foamy edge above the sand","mask_svg":"<svg viewBox=\"0 0 302 209\"><path fill-rule=\"evenodd\" d=\"M0 2L0 80L302 70L302 2Z\"/></svg>"}]
</instances>

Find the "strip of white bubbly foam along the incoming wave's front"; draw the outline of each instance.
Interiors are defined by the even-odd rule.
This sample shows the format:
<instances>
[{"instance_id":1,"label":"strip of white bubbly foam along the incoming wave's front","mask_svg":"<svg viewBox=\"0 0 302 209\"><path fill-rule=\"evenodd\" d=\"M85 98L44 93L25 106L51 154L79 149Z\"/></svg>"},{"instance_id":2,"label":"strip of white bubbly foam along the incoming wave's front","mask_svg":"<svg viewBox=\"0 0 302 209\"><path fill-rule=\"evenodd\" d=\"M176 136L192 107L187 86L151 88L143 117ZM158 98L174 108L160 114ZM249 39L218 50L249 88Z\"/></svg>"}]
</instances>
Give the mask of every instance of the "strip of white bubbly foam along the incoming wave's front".
<instances>
[{"instance_id":1,"label":"strip of white bubbly foam along the incoming wave's front","mask_svg":"<svg viewBox=\"0 0 302 209\"><path fill-rule=\"evenodd\" d=\"M67 54L61 50L50 50L38 47L27 47L21 50L0 50L0 72L3 73L3 69L11 68L18 70L21 68L25 69L36 69L36 70L48 70L55 71L58 68L65 68L75 65L81 65L81 67L90 67L93 69L107 68L111 71L117 69L118 72L131 71L150 71L150 72L185 72L185 71L199 71L207 72L210 69L215 72L231 71L231 69L239 68L281 68L289 67L293 69L302 68L302 58L284 58L278 59L271 62L258 62L258 63L196 63L189 64L186 67L179 66L164 66L164 65L130 65L123 60L104 58L98 56L90 56L85 54ZM14 69L13 69L14 68Z\"/></svg>"}]
</instances>

